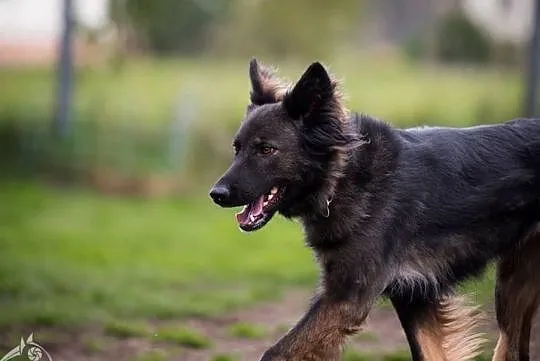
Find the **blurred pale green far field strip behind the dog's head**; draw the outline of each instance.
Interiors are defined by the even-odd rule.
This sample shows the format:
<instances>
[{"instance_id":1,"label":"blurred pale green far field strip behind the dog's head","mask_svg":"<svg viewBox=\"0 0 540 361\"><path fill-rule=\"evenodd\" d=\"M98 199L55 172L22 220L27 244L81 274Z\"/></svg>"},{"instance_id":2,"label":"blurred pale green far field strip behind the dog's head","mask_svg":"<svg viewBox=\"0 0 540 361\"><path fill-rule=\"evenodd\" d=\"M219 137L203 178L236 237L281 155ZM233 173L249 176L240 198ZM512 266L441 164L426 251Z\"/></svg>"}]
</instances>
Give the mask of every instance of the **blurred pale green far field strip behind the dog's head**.
<instances>
[{"instance_id":1,"label":"blurred pale green far field strip behind the dog's head","mask_svg":"<svg viewBox=\"0 0 540 361\"><path fill-rule=\"evenodd\" d=\"M520 112L521 79L513 72L426 68L363 55L328 63L344 79L352 110L396 126L467 126ZM283 76L294 80L309 62L279 64ZM181 170L195 180L215 178L229 162L248 101L247 60L130 60L119 73L82 69L76 77L73 132L60 141L48 132L52 72L0 70L3 164L29 170L99 166L126 174ZM191 122L180 140L173 131L178 121ZM178 141L182 155L173 154Z\"/></svg>"}]
</instances>

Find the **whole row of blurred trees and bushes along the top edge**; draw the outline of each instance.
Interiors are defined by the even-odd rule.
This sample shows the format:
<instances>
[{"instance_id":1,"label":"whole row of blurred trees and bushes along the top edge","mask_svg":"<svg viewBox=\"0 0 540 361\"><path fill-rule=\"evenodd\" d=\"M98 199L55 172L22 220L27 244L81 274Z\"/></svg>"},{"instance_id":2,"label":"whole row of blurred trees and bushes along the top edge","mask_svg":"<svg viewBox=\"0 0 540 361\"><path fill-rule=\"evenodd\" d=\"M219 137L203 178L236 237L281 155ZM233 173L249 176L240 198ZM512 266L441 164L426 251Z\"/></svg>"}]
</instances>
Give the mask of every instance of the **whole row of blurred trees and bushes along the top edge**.
<instances>
[{"instance_id":1,"label":"whole row of blurred trees and bushes along the top edge","mask_svg":"<svg viewBox=\"0 0 540 361\"><path fill-rule=\"evenodd\" d=\"M434 4L429 9L409 5L428 17L425 26L411 26L415 17L410 13L402 14L401 25L393 25L399 6L364 0L342 0L339 6L325 0L115 0L110 2L110 14L120 44L135 53L329 59L361 48L367 32L374 44L401 47L415 60L522 63L523 45L499 44L457 4L437 16ZM370 31L374 21L380 26ZM390 28L399 32L399 26L403 28L399 39L385 35ZM92 38L92 31L87 33ZM112 60L120 66L124 57Z\"/></svg>"}]
</instances>

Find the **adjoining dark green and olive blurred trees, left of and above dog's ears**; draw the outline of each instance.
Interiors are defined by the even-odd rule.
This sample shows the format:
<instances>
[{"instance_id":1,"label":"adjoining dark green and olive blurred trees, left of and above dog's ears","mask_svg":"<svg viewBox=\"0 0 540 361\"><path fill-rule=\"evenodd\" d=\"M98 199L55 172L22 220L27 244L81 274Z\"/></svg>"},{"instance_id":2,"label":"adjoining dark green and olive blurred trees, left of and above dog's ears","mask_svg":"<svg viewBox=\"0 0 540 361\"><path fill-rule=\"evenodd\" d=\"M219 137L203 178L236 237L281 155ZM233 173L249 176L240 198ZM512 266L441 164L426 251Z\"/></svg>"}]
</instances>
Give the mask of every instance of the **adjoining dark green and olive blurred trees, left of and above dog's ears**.
<instances>
[{"instance_id":1,"label":"adjoining dark green and olive blurred trees, left of and above dog's ears","mask_svg":"<svg viewBox=\"0 0 540 361\"><path fill-rule=\"evenodd\" d=\"M154 54L210 49L299 57L329 55L351 40L363 1L116 0L112 21ZM317 24L316 26L313 26Z\"/></svg>"}]
</instances>

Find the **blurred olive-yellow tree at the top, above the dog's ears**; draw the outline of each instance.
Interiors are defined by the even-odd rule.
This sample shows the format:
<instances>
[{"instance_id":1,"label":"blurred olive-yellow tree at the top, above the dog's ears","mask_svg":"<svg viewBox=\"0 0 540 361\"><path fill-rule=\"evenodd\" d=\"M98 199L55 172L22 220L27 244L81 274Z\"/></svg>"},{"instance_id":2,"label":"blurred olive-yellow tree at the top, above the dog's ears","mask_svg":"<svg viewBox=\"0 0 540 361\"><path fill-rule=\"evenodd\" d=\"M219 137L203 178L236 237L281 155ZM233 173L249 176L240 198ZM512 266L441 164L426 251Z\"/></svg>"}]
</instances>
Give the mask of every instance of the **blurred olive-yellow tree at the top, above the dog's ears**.
<instances>
[{"instance_id":1,"label":"blurred olive-yellow tree at the top, above the dog's ears","mask_svg":"<svg viewBox=\"0 0 540 361\"><path fill-rule=\"evenodd\" d=\"M360 21L361 0L236 0L214 33L229 54L325 57L347 44Z\"/></svg>"}]
</instances>

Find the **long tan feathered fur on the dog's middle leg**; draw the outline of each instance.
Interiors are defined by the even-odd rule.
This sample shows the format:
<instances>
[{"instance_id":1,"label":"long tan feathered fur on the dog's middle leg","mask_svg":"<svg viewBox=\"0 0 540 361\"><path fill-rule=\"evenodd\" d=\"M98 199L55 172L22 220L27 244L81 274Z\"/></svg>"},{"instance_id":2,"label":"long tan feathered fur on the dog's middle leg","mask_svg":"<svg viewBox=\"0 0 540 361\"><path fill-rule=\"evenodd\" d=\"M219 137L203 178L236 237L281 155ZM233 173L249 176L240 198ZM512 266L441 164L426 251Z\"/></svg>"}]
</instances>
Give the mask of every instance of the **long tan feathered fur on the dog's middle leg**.
<instances>
[{"instance_id":1,"label":"long tan feathered fur on the dog's middle leg","mask_svg":"<svg viewBox=\"0 0 540 361\"><path fill-rule=\"evenodd\" d=\"M426 361L464 361L478 356L485 342L474 332L480 314L478 307L468 306L462 297L444 299L418 327L418 342Z\"/></svg>"}]
</instances>

